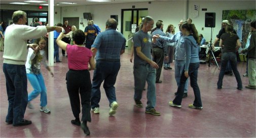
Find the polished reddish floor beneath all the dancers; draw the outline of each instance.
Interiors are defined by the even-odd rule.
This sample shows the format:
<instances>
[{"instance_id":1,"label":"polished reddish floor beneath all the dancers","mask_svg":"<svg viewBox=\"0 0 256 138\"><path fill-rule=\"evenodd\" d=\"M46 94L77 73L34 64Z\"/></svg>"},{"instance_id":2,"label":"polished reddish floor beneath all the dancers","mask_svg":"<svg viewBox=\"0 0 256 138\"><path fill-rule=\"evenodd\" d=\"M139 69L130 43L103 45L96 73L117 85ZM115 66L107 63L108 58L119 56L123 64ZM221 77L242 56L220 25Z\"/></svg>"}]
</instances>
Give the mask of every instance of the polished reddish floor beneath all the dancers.
<instances>
[{"instance_id":1,"label":"polished reddish floor beneath all the dancers","mask_svg":"<svg viewBox=\"0 0 256 138\"><path fill-rule=\"evenodd\" d=\"M34 109L27 109L25 118L32 120L31 125L14 127L5 124L8 100L3 71L0 72L0 137L256 137L255 136L255 90L236 89L237 83L233 76L225 76L223 89L217 90L217 79L220 70L216 65L201 64L198 84L203 103L202 110L188 108L193 102L194 94L189 87L188 97L182 101L180 109L168 105L174 99L177 90L174 70L163 70L156 84L156 109L161 116L145 114L145 108L134 106L133 64L129 61L129 51L121 57L121 69L116 83L118 111L114 116L108 115L108 101L101 87L100 114L91 114L92 122L88 124L91 131L86 136L79 126L72 125L72 115L66 91L65 74L68 70L67 59L55 63L54 78L43 68L48 89L48 106L50 114L39 111L40 97L34 99ZM3 52L0 52L1 70ZM171 64L174 67L174 64ZM238 63L243 86L248 78L242 77L246 70L246 62ZM93 71L91 71L92 79ZM28 82L28 92L32 90ZM142 103L147 103L146 91Z\"/></svg>"}]
</instances>

